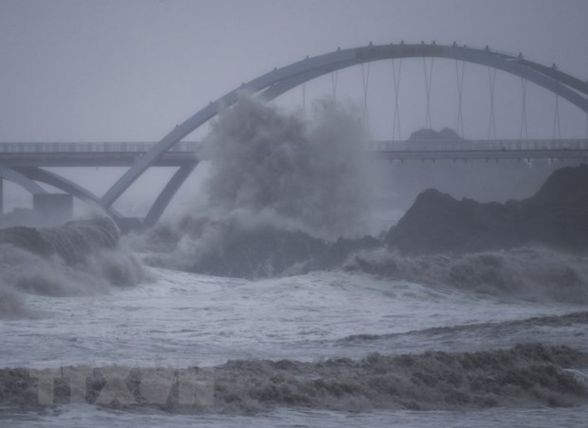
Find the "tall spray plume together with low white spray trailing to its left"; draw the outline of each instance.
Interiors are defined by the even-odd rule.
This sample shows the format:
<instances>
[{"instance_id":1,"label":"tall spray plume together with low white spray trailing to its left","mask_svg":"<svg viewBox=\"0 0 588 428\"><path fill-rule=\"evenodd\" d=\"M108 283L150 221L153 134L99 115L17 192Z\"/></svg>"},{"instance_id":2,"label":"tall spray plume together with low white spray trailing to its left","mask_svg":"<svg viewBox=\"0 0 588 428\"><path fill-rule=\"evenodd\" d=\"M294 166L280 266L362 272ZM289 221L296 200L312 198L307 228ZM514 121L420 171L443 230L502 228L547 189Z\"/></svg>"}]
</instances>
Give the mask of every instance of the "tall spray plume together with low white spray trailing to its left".
<instances>
[{"instance_id":1,"label":"tall spray plume together with low white spray trailing to its left","mask_svg":"<svg viewBox=\"0 0 588 428\"><path fill-rule=\"evenodd\" d=\"M198 203L160 222L138 249L159 252L158 265L192 270L211 253L222 255L235 236L260 230L327 240L369 232L366 141L352 106L320 101L305 116L243 93L206 139L211 160L199 168Z\"/></svg>"}]
</instances>

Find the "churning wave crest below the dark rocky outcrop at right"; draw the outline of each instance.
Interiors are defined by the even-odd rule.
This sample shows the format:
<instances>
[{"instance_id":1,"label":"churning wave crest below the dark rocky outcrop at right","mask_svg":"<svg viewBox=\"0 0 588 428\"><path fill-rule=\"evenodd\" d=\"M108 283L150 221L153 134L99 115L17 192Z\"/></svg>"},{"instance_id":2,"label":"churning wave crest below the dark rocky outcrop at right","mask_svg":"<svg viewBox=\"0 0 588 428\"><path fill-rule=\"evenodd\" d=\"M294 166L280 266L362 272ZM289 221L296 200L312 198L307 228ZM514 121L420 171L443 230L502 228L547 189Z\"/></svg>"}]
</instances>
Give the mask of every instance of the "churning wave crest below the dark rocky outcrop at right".
<instances>
[{"instance_id":1,"label":"churning wave crest below the dark rocky outcrop at right","mask_svg":"<svg viewBox=\"0 0 588 428\"><path fill-rule=\"evenodd\" d=\"M588 257L546 248L403 256L387 249L350 257L346 270L530 301L588 303Z\"/></svg>"}]
</instances>

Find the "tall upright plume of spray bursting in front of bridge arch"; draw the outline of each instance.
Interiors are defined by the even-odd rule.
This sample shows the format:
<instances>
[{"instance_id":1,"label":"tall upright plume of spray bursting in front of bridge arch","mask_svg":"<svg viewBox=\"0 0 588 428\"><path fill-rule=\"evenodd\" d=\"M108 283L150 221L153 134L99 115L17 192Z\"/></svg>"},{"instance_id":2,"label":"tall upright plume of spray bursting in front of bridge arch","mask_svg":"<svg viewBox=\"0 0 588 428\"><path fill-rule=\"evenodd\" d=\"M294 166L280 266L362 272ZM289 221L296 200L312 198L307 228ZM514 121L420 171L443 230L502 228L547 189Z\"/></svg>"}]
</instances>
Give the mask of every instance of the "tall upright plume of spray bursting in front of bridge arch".
<instances>
[{"instance_id":1,"label":"tall upright plume of spray bursting in front of bridge arch","mask_svg":"<svg viewBox=\"0 0 588 428\"><path fill-rule=\"evenodd\" d=\"M312 119L243 94L207 138L208 203L221 217L273 217L313 236L366 231L371 213L366 131L359 112L321 101Z\"/></svg>"}]
</instances>

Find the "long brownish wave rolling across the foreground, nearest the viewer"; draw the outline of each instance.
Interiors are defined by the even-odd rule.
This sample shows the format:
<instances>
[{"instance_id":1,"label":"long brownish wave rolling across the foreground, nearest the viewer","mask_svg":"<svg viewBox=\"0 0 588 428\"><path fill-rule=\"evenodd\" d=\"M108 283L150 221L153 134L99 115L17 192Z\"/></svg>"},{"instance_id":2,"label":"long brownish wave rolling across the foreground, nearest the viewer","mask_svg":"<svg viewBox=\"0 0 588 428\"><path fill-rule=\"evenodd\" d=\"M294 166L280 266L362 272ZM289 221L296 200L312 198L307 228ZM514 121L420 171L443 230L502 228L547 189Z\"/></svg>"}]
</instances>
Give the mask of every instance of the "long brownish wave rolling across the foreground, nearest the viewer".
<instances>
[{"instance_id":1,"label":"long brownish wave rolling across the foreground, nearest the viewer","mask_svg":"<svg viewBox=\"0 0 588 428\"><path fill-rule=\"evenodd\" d=\"M588 355L570 347L517 345L312 363L234 360L209 369L0 369L0 404L34 406L43 397L43 404L75 400L128 410L235 414L276 407L348 412L560 407L588 403L586 374L577 370L583 367L588 367Z\"/></svg>"}]
</instances>

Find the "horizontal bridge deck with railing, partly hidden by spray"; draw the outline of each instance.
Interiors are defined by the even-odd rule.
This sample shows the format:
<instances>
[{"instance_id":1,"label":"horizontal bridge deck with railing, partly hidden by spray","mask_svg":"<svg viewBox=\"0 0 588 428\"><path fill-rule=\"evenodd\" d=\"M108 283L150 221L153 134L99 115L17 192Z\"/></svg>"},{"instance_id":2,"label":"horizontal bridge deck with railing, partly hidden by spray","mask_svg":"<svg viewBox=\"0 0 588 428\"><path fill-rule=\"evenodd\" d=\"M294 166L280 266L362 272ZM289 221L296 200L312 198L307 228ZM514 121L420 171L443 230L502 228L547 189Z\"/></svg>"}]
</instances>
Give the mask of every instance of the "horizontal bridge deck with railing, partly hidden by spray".
<instances>
[{"instance_id":1,"label":"horizontal bridge deck with railing, partly hidden by spray","mask_svg":"<svg viewBox=\"0 0 588 428\"><path fill-rule=\"evenodd\" d=\"M0 166L131 166L155 143L0 143ZM588 140L375 141L372 159L587 159ZM157 166L182 166L207 159L202 143L182 142L166 152Z\"/></svg>"}]
</instances>

